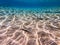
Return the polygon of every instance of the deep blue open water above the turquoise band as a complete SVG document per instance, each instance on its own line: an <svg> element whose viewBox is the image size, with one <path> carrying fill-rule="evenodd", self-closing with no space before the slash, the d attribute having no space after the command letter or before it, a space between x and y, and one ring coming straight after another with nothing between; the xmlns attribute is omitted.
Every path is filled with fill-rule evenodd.
<svg viewBox="0 0 60 45"><path fill-rule="evenodd" d="M0 6L23 8L60 7L60 0L0 0Z"/></svg>

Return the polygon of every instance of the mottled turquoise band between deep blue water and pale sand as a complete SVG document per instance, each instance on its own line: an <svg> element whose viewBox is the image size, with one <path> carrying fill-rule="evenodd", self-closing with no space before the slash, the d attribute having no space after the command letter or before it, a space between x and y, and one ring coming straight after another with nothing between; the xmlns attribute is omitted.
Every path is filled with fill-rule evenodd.
<svg viewBox="0 0 60 45"><path fill-rule="evenodd" d="M0 7L0 15L22 15L22 14L60 13L60 7L40 7L40 8L19 8Z"/></svg>

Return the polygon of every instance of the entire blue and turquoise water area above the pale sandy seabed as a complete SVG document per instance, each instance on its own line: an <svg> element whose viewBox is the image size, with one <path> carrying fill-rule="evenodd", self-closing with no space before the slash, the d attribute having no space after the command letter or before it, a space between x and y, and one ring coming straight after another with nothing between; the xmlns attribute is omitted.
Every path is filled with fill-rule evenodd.
<svg viewBox="0 0 60 45"><path fill-rule="evenodd" d="M59 0L0 0L0 9L31 11L39 13L60 13ZM0 10L1 11L1 10ZM7 11L8 12L8 11Z"/></svg>

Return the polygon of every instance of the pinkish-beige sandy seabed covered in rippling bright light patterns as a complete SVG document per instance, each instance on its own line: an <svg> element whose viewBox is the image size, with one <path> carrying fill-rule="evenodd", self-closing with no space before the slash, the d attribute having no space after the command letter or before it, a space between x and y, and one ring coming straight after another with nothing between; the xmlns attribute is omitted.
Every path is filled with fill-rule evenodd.
<svg viewBox="0 0 60 45"><path fill-rule="evenodd" d="M0 13L0 45L60 45L60 14Z"/></svg>

